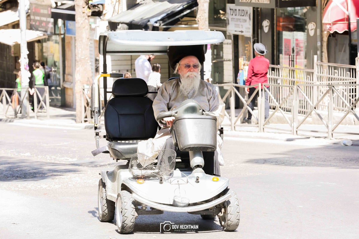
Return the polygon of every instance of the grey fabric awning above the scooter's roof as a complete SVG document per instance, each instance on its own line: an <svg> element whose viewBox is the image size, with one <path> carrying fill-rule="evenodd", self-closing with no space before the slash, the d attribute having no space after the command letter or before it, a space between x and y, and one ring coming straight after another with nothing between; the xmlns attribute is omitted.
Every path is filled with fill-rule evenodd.
<svg viewBox="0 0 359 239"><path fill-rule="evenodd" d="M153 26L174 25L178 18L193 11L197 6L197 0L144 0L109 18L108 21L124 23L130 30L152 30Z"/></svg>

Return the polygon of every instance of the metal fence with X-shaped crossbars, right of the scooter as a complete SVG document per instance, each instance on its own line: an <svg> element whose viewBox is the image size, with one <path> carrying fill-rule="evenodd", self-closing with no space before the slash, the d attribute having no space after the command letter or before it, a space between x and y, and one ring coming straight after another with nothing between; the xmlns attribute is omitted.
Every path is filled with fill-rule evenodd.
<svg viewBox="0 0 359 239"><path fill-rule="evenodd" d="M285 124L288 124L289 129L288 132L296 135L298 131L307 131L309 130L304 129L302 126L304 125L307 118L312 117L312 114L315 114L321 121L321 123L325 126L326 131L320 130L310 130L310 132L317 132L317 133L326 133L327 138L331 139L333 134L359 134L358 130L353 132L339 132L338 126L344 122L344 119L349 115L353 115L353 119L356 119L359 124L359 116L358 113L355 111L356 108L359 109L359 96L355 96L348 102L342 96L342 86L351 86L351 87L358 87L359 84L297 84L295 86L288 86L288 85L274 85L274 84L263 84L263 89L261 89L261 84L254 85L257 86L258 92L258 116L256 116L253 111L248 106L250 99L246 97L242 97L239 92L237 91L236 87L254 87L254 86L243 86L237 84L218 84L218 87L226 87L227 92L223 97L223 101L227 98L229 99L230 105L230 114L225 114L225 117L229 120L229 125L231 130L235 130L236 126L241 126L243 115L250 111L252 113L252 117L255 117L258 121L257 127L259 132L264 132L266 128L271 128L270 126L266 125L277 113L280 113L280 117ZM268 88L267 88L268 87ZM278 97L278 95L273 94L271 92L272 87L278 87L281 92L287 92L285 97ZM311 99L312 92L314 90L320 90L324 92L319 99ZM271 101L271 111L269 114L268 119L264 119L264 92L267 92L269 95L269 101ZM239 100L243 102L243 110L236 116L234 112L234 96L237 95ZM253 94L254 95L254 94ZM252 96L253 96L252 95ZM329 99L329 100L328 100ZM340 99L340 100L337 100ZM337 108L337 104L344 105L341 111L335 111ZM290 105L290 107L288 107ZM325 105L326 110L318 109L319 105ZM306 106L305 109L303 106ZM340 114L340 119L334 120L333 114L337 112ZM301 119L299 118L301 117ZM239 124L237 122L239 121ZM225 124L224 124L225 125ZM281 129L283 130L283 129ZM284 129L285 130L285 129Z"/></svg>

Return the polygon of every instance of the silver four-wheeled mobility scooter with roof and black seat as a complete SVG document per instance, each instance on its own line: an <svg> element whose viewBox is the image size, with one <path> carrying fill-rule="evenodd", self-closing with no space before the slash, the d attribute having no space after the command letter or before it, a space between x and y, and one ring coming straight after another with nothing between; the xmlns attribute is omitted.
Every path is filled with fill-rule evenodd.
<svg viewBox="0 0 359 239"><path fill-rule="evenodd" d="M216 117L205 112L194 100L186 100L171 111L154 117L148 87L140 78L120 78L119 73L106 73L107 55L167 54L170 46L200 45L223 42L221 32L187 30L148 32L122 30L103 32L99 37L99 53L103 56L103 71L92 85L91 110L94 114L96 146L92 153L108 153L126 164L112 171L100 172L98 184L98 214L102 222L116 216L118 231L132 233L138 215L162 214L163 211L198 214L203 219L214 219L225 231L239 225L239 201L229 188L229 179L206 174L202 167L202 152L216 150ZM107 77L113 82L112 99L104 97L104 126L106 135L98 129L101 115L99 81L103 80L106 96ZM140 140L153 138L161 120L175 118L170 129L173 143L187 156L172 149L159 150L156 158L137 153ZM100 138L107 144L100 147ZM181 158L182 157L182 158ZM185 158L187 157L187 161ZM189 160L188 160L189 158Z"/></svg>

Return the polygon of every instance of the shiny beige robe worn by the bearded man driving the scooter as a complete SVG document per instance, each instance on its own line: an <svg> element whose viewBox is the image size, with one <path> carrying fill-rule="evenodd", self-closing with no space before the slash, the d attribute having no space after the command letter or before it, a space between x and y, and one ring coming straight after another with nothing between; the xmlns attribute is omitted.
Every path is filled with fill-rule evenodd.
<svg viewBox="0 0 359 239"><path fill-rule="evenodd" d="M225 104L223 103L216 87L206 81L200 81L197 94L193 95L194 92L192 91L188 94L188 97L184 99L184 97L180 94L179 85L179 79L166 81L162 84L158 90L155 100L153 101L155 118L157 118L157 116L164 111L173 110L174 108L180 106L184 100L192 99L197 101L204 111L211 112L212 115L216 116L217 126L219 128L219 125L224 119ZM171 137L169 127L164 127L157 132L153 139L151 138L139 142L137 153L142 153L149 157L156 158L158 156L158 152L156 151L162 149L164 143L169 137ZM224 164L221 152L222 145L223 141L218 135L215 159L218 159L220 165Z"/></svg>

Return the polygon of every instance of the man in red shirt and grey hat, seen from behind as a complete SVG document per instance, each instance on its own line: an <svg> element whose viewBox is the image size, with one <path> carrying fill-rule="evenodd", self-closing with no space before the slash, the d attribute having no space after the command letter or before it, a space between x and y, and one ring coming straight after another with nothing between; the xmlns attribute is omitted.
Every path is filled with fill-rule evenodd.
<svg viewBox="0 0 359 239"><path fill-rule="evenodd" d="M262 43L256 43L253 46L255 51L255 58L251 59L248 64L248 72L246 79L246 86L257 85L258 83L268 83L267 73L269 68L269 60L264 57L264 55L268 52L266 47ZM254 91L258 86L248 87L246 91L248 92L248 99L253 95ZM266 86L267 88L269 86ZM263 89L263 85L261 85ZM256 99L258 97L258 92L256 96L253 97L248 106L253 110ZM265 108L264 108L264 119L266 120L269 117L269 101L268 101L268 92L264 91L265 97ZM248 111L248 117L243 120L247 124L252 124L252 114ZM267 122L269 124L269 122Z"/></svg>

